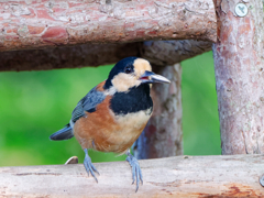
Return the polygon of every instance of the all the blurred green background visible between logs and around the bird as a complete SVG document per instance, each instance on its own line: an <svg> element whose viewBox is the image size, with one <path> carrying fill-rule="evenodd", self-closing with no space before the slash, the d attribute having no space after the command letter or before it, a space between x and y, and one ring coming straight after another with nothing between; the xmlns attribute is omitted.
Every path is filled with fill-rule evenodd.
<svg viewBox="0 0 264 198"><path fill-rule="evenodd" d="M182 63L186 155L218 155L220 130L212 53ZM79 99L108 77L111 66L0 73L0 166L64 164L84 152L75 139L52 142ZM92 162L125 156L89 151Z"/></svg>

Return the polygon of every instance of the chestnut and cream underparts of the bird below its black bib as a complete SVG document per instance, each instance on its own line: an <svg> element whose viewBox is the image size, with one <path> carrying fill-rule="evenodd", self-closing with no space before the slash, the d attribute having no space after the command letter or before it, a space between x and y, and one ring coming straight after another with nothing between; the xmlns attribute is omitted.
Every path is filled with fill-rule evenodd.
<svg viewBox="0 0 264 198"><path fill-rule="evenodd" d="M82 148L124 153L145 128L151 110L114 116L109 109L110 99L107 96L95 112L86 112L76 121L74 134Z"/></svg>

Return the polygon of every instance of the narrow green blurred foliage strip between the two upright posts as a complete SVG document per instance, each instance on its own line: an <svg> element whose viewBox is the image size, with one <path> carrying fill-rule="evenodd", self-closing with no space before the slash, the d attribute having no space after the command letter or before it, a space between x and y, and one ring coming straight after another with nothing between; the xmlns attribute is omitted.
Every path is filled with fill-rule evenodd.
<svg viewBox="0 0 264 198"><path fill-rule="evenodd" d="M184 61L182 66L184 153L220 155L220 123L212 52Z"/></svg>

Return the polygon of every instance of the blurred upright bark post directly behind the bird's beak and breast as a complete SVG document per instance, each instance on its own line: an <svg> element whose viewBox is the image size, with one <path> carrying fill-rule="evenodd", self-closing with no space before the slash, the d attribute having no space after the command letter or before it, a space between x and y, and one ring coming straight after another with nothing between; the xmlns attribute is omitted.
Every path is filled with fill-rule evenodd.
<svg viewBox="0 0 264 198"><path fill-rule="evenodd" d="M182 129L182 67L154 67L153 70L165 76L172 82L154 84L152 99L154 111L143 133L134 146L138 158L158 158L183 155Z"/></svg>

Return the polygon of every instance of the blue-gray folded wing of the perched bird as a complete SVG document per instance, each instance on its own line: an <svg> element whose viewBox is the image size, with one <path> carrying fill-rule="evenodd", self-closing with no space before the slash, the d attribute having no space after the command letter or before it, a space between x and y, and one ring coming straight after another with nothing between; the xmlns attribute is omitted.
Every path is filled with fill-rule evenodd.
<svg viewBox="0 0 264 198"><path fill-rule="evenodd" d="M79 118L85 117L85 111L94 112L98 103L101 103L106 95L94 87L76 106L72 113L72 121L76 122Z"/></svg>

